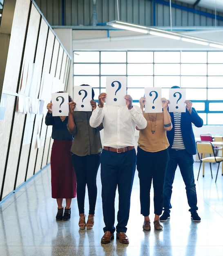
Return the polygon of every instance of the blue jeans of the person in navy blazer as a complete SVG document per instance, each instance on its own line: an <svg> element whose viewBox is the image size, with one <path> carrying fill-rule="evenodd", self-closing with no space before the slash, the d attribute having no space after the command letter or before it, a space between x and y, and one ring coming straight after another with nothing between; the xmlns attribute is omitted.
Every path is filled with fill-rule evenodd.
<svg viewBox="0 0 223 256"><path fill-rule="evenodd" d="M180 168L183 181L185 183L185 189L187 193L187 202L190 206L189 211L194 212L198 209L197 207L197 195L194 183L194 159L193 155L187 153L187 150L175 150L169 149L169 164L167 167L165 185L164 185L164 211L170 213L172 208L170 199L172 195L172 184L174 182L175 171L177 165Z"/></svg>

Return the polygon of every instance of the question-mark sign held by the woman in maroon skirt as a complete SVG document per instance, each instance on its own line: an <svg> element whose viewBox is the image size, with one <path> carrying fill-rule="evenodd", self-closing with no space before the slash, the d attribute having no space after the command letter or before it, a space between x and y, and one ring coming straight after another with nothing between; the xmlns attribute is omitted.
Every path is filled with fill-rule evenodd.
<svg viewBox="0 0 223 256"><path fill-rule="evenodd" d="M69 114L68 93L66 92L52 93L51 101L53 104L52 106L53 117L68 116Z"/></svg>

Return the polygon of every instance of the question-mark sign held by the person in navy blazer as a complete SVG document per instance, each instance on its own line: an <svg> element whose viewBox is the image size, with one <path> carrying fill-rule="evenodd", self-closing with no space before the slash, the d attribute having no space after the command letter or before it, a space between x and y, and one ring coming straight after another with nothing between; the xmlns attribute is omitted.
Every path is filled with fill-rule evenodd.
<svg viewBox="0 0 223 256"><path fill-rule="evenodd" d="M185 103L186 89L170 88L169 89L169 112L186 112Z"/></svg>

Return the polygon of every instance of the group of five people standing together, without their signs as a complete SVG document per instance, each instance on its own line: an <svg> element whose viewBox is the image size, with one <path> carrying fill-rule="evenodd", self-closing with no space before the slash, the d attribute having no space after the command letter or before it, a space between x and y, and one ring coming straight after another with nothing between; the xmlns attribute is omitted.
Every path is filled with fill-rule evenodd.
<svg viewBox="0 0 223 256"><path fill-rule="evenodd" d="M130 197L137 168L140 180L141 214L144 216L143 230L149 231L150 189L154 188L154 229L162 230L160 221L170 218L170 198L177 165L186 186L187 200L193 221L200 221L197 214L197 198L193 173L193 155L196 154L192 123L201 127L202 119L185 101L186 112L169 113L169 101L162 98L161 113L145 113L146 98L134 106L132 97L125 95L126 106L108 106L106 93L94 101L92 89L92 111L74 111L76 103L69 99L69 116L52 117L52 103L47 104L46 124L52 125L54 143L51 152L52 198L58 203L57 220L69 220L71 199L76 196L79 209L80 229L94 226L94 211L97 197L96 175L101 164L102 204L105 222L101 243L116 239L129 243L126 235L129 219ZM100 130L104 129L103 148ZM137 155L135 129L139 130ZM72 142L73 140L73 142ZM66 142L64 142L66 141ZM66 144L67 161L61 152ZM74 171L75 170L75 171ZM76 188L77 184L77 188ZM85 222L85 189L88 188L89 216ZM114 201L118 187L118 214L115 222ZM62 199L66 199L63 213ZM163 215L162 214L162 211ZM160 217L161 216L161 217Z"/></svg>

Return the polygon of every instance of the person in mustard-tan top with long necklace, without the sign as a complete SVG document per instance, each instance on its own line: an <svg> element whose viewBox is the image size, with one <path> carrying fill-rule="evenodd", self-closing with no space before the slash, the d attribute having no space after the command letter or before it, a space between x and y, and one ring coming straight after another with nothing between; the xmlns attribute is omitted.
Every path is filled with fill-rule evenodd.
<svg viewBox="0 0 223 256"><path fill-rule="evenodd" d="M145 97L139 100L140 108L145 106ZM147 127L139 130L137 149L137 170L140 181L141 214L144 216L143 230L149 231L150 219L150 189L154 188L154 228L162 230L159 216L163 210L163 189L165 174L169 161L167 131L172 129L172 122L167 110L167 99L161 98L163 111L161 113L145 113Z"/></svg>

